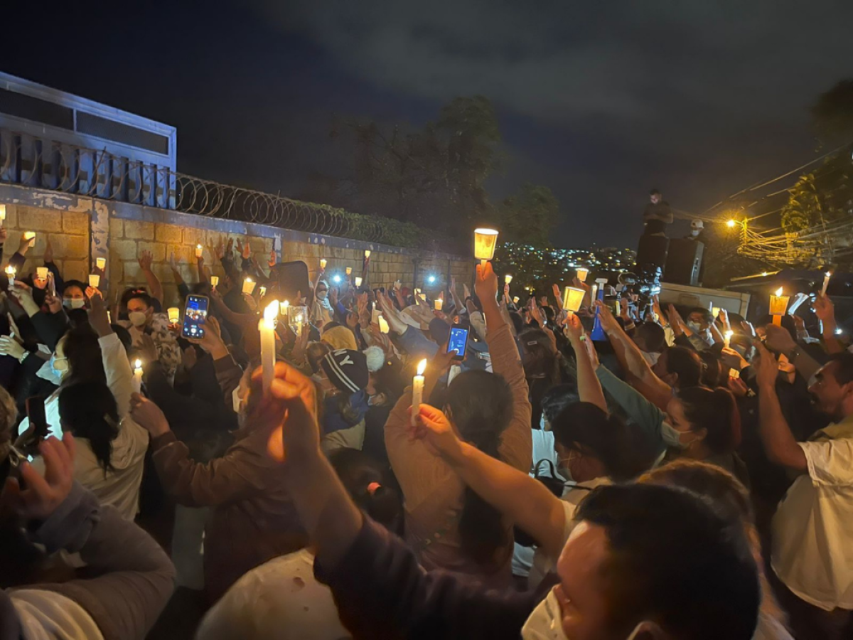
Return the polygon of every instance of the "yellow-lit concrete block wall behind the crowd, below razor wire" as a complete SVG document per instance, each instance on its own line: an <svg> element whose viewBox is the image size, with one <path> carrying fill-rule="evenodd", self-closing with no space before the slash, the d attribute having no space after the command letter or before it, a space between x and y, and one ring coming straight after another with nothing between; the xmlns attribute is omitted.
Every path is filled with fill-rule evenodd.
<svg viewBox="0 0 853 640"><path fill-rule="evenodd" d="M216 244L220 238L227 237L241 237L243 241L248 238L252 252L264 266L273 250L282 262L303 260L312 279L322 258L328 260L328 275L335 271L343 273L347 266L358 274L365 249L372 252L370 282L374 286L387 287L395 280L411 286L415 270L418 276L415 286L425 290L442 288L450 275L456 276L459 282L470 283L473 278L472 259L283 230L264 224L206 218L15 185L0 185L0 203L6 204L5 226L9 232L4 247L6 259L17 248L24 231L37 234L36 245L27 254L26 273L42 264L44 247L49 240L55 262L67 279L85 281L95 258L107 258L107 278L110 294L114 296L125 288L145 284L138 258L142 251L150 251L154 259L152 269L165 288L166 305L177 304L177 285L169 268L169 256L174 253L184 280L195 282L195 246L205 247L205 259L210 266L213 257L207 249L208 244ZM223 275L221 267L212 266L215 275ZM434 285L426 282L430 274L437 276Z"/></svg>

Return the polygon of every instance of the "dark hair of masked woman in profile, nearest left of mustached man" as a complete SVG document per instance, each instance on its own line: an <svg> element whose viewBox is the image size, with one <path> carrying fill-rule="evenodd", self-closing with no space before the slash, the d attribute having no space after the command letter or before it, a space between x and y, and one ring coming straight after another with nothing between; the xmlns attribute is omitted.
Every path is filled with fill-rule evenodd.
<svg viewBox="0 0 853 640"><path fill-rule="evenodd" d="M704 428L705 444L714 453L730 453L740 445L740 413L728 389L690 387L678 392L684 416L693 430Z"/></svg>

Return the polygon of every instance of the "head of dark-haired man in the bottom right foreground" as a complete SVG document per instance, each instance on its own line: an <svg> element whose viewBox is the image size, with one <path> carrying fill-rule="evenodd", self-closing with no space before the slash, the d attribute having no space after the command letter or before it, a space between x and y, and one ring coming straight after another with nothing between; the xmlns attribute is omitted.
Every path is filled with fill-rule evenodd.
<svg viewBox="0 0 853 640"><path fill-rule="evenodd" d="M557 563L550 604L566 637L749 640L761 600L740 522L668 486L602 486L577 508L579 523ZM531 625L536 625L531 628ZM526 636L525 636L526 637Z"/></svg>

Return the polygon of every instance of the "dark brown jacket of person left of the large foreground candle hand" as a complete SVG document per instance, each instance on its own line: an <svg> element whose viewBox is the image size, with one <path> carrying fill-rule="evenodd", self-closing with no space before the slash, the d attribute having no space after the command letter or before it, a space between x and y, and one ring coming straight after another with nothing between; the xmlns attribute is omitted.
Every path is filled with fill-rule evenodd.
<svg viewBox="0 0 853 640"><path fill-rule="evenodd" d="M281 465L267 455L268 439L269 428L241 428L223 457L206 464L191 460L174 433L154 439L154 466L165 491L180 504L214 507L205 532L212 599L249 569L307 543Z"/></svg>

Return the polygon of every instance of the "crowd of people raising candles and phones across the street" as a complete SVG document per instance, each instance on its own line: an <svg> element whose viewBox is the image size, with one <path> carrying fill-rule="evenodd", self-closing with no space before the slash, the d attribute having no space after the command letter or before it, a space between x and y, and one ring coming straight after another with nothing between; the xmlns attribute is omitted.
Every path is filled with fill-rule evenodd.
<svg viewBox="0 0 853 640"><path fill-rule="evenodd" d="M49 251L25 273L32 242L0 282L0 640L143 638L176 586L200 640L853 637L853 353L824 294L812 336L323 260L270 381L275 253L223 239L164 300L146 253L117 291ZM165 312L189 295L199 338Z"/></svg>

